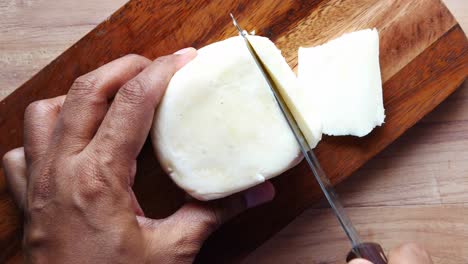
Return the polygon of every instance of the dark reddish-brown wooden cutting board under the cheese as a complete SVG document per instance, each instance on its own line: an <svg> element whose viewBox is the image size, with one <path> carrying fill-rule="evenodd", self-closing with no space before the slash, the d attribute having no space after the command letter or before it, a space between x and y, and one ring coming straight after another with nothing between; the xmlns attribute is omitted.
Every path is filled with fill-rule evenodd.
<svg viewBox="0 0 468 264"><path fill-rule="evenodd" d="M334 184L414 125L468 75L468 41L438 0L133 0L0 103L0 155L22 145L23 113L32 101L65 94L75 78L124 54L156 58L234 36L229 12L249 31L271 38L294 69L299 46L322 44L363 28L379 30L386 123L364 138L322 140L316 154ZM321 196L303 163L273 183L275 200L218 230L205 243L198 262L241 260ZM184 201L148 142L138 160L134 188L151 217L170 215ZM21 245L21 216L3 171L0 215L3 262L18 257Z"/></svg>

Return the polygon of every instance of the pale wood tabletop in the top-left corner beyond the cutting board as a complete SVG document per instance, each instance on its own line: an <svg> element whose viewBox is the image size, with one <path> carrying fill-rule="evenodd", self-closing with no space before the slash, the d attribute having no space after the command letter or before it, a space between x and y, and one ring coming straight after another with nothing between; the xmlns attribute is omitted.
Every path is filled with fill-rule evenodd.
<svg viewBox="0 0 468 264"><path fill-rule="evenodd" d="M13 92L125 2L0 1L0 99Z"/></svg>

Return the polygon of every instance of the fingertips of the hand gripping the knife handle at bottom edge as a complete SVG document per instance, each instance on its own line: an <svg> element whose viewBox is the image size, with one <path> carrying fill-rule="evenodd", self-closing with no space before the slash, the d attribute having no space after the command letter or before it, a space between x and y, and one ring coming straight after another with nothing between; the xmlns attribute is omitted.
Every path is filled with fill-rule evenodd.
<svg viewBox="0 0 468 264"><path fill-rule="evenodd" d="M372 262L354 259L348 264L372 264ZM432 260L424 248L414 243L407 243L390 251L388 264L432 264Z"/></svg>

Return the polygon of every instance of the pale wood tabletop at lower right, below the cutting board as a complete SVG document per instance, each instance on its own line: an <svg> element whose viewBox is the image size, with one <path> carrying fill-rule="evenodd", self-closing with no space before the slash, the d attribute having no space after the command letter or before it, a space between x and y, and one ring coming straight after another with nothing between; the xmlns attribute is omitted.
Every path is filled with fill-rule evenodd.
<svg viewBox="0 0 468 264"><path fill-rule="evenodd" d="M427 248L435 264L467 263L467 103L465 82L435 111L338 185L346 210L366 239L381 242L387 251L402 242L418 242ZM325 201L314 207L244 263L284 263L285 259L292 263L343 263L349 245L341 227ZM387 216L398 220L382 223ZM381 224L376 227L364 222ZM317 232L309 232L313 228Z"/></svg>

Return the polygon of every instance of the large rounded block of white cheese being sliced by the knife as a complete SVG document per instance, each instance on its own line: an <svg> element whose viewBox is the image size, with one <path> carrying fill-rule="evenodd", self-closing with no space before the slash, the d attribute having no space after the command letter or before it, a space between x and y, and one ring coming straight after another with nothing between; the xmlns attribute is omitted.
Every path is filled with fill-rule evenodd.
<svg viewBox="0 0 468 264"><path fill-rule="evenodd" d="M282 91L290 94L291 103L300 86L280 51L267 38L249 39L284 86ZM299 108L302 104L297 103ZM304 119L301 126L315 146L319 125L311 118L298 118ZM241 37L201 48L174 75L156 111L151 135L162 167L199 200L257 185L302 158Z"/></svg>

